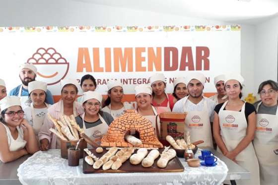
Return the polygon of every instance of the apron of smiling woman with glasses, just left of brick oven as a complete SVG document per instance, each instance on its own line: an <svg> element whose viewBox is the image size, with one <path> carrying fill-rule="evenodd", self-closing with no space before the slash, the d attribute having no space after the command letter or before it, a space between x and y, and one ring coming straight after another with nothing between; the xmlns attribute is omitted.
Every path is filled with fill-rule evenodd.
<svg viewBox="0 0 278 185"><path fill-rule="evenodd" d="M86 128L85 122L84 122L84 117L85 113L81 115L82 122L83 122L83 129L85 131L85 134L89 136L93 141L95 141L97 144L100 144L101 142L101 136L107 133L107 130L109 128L108 124L105 122L105 120L98 114L98 117L100 121L102 122L101 124L97 126L93 126L90 128ZM91 145L89 145L91 146ZM91 146L92 147L92 146Z"/></svg>

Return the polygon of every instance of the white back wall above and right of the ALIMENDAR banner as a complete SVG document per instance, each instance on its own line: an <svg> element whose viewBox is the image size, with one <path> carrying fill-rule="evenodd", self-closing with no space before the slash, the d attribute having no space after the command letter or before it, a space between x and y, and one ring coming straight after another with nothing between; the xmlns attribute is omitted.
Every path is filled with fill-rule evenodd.
<svg viewBox="0 0 278 185"><path fill-rule="evenodd" d="M170 7L169 7L170 8ZM236 24L236 22L234 22ZM77 0L9 0L0 2L0 27L64 25L226 25L228 22L134 10ZM241 71L244 95L254 91L254 26L242 25ZM277 41L277 40L276 40ZM224 44L224 43L223 43ZM276 67L277 68L277 67Z"/></svg>

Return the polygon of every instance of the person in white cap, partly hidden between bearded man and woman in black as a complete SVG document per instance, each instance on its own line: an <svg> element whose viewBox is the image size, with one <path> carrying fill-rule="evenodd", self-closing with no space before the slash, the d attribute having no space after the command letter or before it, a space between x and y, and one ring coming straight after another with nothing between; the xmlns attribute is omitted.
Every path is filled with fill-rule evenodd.
<svg viewBox="0 0 278 185"><path fill-rule="evenodd" d="M224 79L224 74L214 77L214 85L216 87L217 93L209 97L209 99L215 102L216 105L225 102L228 98L224 89Z"/></svg>

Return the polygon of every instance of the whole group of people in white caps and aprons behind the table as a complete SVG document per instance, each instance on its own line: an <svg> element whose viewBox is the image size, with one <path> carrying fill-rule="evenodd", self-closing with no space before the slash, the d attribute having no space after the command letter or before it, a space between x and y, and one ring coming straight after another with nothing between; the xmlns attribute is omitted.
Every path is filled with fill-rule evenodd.
<svg viewBox="0 0 278 185"><path fill-rule="evenodd" d="M201 147L213 147L214 139L218 151L251 172L250 180L237 181L238 184L273 185L278 181L278 155L273 152L278 149L278 84L275 81L261 83L258 89L261 101L252 105L241 100L244 79L239 74L216 76L217 93L207 98L203 95L206 77L202 73L176 78L172 94L165 92L165 76L155 73L150 76L149 84L135 87L137 106L133 107L122 102L123 84L108 81L108 98L103 100L95 91L95 78L89 74L80 80L83 95L78 98L77 80L61 80L61 99L54 104L47 84L35 80L36 73L33 64L20 65L22 84L12 89L9 96L0 79L2 162L38 150L60 148L60 140L49 130L55 125L46 116L48 113L57 120L61 115L74 115L85 133L100 142L101 134L125 110L135 109L153 127L159 113L187 112L185 128L190 131L192 141L204 140Z"/></svg>

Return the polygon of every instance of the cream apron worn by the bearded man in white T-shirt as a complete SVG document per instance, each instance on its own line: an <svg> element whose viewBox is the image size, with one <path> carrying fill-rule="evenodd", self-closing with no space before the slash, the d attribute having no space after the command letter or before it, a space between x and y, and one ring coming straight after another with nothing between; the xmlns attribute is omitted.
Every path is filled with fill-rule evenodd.
<svg viewBox="0 0 278 185"><path fill-rule="evenodd" d="M185 110L185 103L188 96L183 100L183 111L187 112L185 119L185 131L190 131L191 142L198 140L204 140L204 143L199 144L199 146L209 146L213 148L212 135L211 135L211 125L208 114L207 101L204 101L204 108L202 111L187 111Z"/></svg>

